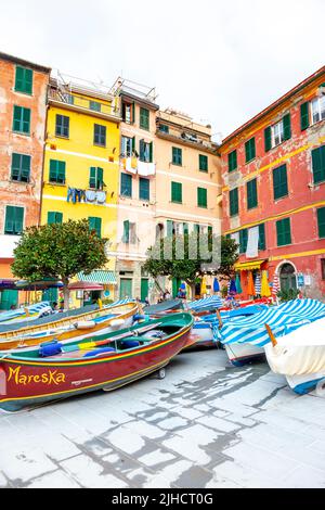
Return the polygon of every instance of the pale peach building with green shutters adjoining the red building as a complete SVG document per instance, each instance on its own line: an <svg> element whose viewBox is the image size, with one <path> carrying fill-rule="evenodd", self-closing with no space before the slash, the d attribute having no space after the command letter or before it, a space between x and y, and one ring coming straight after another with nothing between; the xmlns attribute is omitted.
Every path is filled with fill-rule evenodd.
<svg viewBox="0 0 325 510"><path fill-rule="evenodd" d="M171 109L156 119L156 233L221 233L221 164L211 127ZM161 286L176 296L180 281ZM211 282L208 280L208 291ZM210 285L209 285L210 283ZM199 285L196 295L200 295Z"/></svg>

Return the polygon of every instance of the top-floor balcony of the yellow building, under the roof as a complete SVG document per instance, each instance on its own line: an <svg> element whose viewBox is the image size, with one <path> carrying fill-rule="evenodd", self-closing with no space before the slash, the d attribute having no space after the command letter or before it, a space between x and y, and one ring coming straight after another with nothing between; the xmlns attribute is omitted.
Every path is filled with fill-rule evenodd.
<svg viewBox="0 0 325 510"><path fill-rule="evenodd" d="M107 120L120 122L120 107L115 103L115 98L110 102L102 102L96 98L88 99L83 95L70 92L62 88L49 89L49 103L66 110L73 110L78 113L86 113Z"/></svg>

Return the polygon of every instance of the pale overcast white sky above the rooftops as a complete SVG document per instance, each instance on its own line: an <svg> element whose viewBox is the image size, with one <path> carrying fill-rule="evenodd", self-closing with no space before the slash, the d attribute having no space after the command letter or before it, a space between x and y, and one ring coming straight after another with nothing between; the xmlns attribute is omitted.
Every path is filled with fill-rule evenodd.
<svg viewBox="0 0 325 510"><path fill-rule="evenodd" d="M1 0L0 51L156 87L218 140L324 65L324 0Z"/></svg>

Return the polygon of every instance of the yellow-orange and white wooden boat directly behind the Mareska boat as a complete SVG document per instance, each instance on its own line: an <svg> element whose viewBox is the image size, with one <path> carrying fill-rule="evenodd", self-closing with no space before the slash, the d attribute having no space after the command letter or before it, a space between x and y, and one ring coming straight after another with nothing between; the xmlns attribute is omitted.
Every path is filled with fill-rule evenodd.
<svg viewBox="0 0 325 510"><path fill-rule="evenodd" d="M131 326L133 316L138 311L138 303L130 302L65 317L46 324L26 326L18 330L0 332L0 350L38 345L53 339L66 341L78 337L80 340L93 334L108 333L114 329Z"/></svg>

